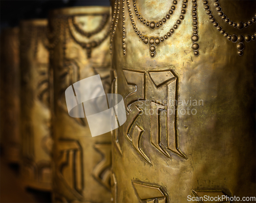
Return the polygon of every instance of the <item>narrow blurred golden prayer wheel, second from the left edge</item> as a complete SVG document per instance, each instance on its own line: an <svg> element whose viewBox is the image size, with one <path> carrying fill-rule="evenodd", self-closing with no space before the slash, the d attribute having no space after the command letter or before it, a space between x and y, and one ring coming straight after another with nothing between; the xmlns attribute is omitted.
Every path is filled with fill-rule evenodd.
<svg viewBox="0 0 256 203"><path fill-rule="evenodd" d="M26 186L51 190L47 20L20 22L21 175Z"/></svg>

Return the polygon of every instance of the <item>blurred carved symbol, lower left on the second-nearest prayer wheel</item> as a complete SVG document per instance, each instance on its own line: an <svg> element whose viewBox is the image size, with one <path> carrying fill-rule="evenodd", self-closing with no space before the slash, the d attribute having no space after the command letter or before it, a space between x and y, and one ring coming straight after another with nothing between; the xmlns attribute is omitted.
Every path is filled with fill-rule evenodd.
<svg viewBox="0 0 256 203"><path fill-rule="evenodd" d="M59 140L60 154L57 161L57 174L71 191L81 198L83 190L82 147L75 140Z"/></svg>

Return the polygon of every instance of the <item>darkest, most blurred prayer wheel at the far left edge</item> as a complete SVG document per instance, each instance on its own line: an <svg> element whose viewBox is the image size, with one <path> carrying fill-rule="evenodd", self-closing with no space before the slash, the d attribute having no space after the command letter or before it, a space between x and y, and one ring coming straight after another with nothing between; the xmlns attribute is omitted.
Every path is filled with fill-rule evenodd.
<svg viewBox="0 0 256 203"><path fill-rule="evenodd" d="M1 144L6 161L20 161L19 30L1 33Z"/></svg>

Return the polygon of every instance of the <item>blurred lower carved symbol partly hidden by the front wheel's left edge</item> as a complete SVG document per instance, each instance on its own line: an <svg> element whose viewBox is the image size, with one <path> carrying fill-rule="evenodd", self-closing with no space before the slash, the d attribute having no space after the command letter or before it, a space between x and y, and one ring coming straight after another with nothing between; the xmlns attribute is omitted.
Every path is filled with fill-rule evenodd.
<svg viewBox="0 0 256 203"><path fill-rule="evenodd" d="M93 170L93 177L110 190L111 176L111 143L95 144L94 148L102 154L103 159Z"/></svg>

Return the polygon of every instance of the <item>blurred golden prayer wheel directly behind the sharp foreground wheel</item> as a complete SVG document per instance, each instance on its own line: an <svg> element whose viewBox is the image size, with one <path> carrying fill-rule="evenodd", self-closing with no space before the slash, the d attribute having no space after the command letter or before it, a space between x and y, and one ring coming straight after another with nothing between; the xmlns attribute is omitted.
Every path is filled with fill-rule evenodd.
<svg viewBox="0 0 256 203"><path fill-rule="evenodd" d="M54 75L53 201L110 202L111 133L92 137L85 118L69 116L65 91L99 74L110 92L110 7L75 7L49 16Z"/></svg>

